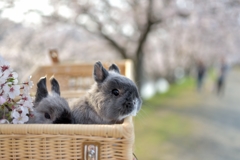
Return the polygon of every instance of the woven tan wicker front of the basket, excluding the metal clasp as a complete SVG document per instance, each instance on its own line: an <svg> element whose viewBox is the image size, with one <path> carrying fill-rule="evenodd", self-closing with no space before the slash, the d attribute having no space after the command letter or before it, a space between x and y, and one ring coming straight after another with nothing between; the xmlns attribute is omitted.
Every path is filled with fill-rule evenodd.
<svg viewBox="0 0 240 160"><path fill-rule="evenodd" d="M101 160L130 160L132 118L117 125L0 125L0 159L82 160L83 142L100 144Z"/></svg>

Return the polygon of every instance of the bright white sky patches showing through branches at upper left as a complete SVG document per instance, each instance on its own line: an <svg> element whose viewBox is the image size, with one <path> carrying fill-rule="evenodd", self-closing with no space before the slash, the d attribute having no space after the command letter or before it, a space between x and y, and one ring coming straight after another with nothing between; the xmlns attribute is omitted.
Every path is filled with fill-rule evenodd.
<svg viewBox="0 0 240 160"><path fill-rule="evenodd" d="M79 0L79 3L83 3ZM97 0L93 1L97 3ZM109 1L111 5L118 6L119 8L127 7L125 3L122 3L121 0ZM54 8L49 4L49 0L16 0L14 1L14 7L4 9L1 17L8 18L11 21L16 23L25 23L25 24L40 24L41 23L41 15L37 12L33 12L33 10L38 11L42 15L51 15L54 12ZM84 3L83 3L84 4ZM6 2L0 1L0 9L6 5ZM71 9L65 5L60 5L57 10L58 14L65 17L70 18L72 16Z"/></svg>

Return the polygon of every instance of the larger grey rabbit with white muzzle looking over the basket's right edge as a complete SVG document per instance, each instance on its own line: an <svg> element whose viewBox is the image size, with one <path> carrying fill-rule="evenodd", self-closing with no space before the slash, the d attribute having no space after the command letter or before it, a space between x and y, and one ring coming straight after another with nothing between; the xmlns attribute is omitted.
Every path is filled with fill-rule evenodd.
<svg viewBox="0 0 240 160"><path fill-rule="evenodd" d="M73 123L120 124L137 114L142 104L138 89L115 64L107 71L101 62L96 62L93 77L91 89L72 107Z"/></svg>

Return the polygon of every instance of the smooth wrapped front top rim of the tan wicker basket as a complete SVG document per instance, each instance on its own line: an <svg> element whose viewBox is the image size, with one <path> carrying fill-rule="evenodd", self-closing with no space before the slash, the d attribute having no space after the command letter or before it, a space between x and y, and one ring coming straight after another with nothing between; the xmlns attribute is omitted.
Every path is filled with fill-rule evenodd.
<svg viewBox="0 0 240 160"><path fill-rule="evenodd" d="M1 135L91 135L131 137L134 127L132 117L122 124L0 124Z"/></svg>

